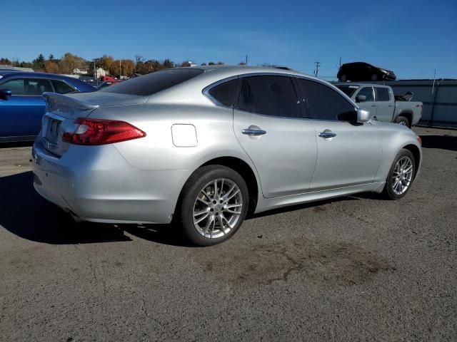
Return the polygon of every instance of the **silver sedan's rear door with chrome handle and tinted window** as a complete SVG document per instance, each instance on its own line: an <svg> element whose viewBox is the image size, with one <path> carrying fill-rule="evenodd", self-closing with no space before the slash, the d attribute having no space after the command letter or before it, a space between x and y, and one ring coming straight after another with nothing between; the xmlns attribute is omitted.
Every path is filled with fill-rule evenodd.
<svg viewBox="0 0 457 342"><path fill-rule="evenodd" d="M301 116L289 76L241 76L233 130L251 158L267 198L308 191L316 166L316 133Z"/></svg>

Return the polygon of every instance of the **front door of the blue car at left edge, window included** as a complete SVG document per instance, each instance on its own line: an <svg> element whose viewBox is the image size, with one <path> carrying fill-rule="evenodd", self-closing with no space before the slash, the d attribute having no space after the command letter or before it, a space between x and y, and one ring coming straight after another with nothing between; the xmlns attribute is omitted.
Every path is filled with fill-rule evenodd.
<svg viewBox="0 0 457 342"><path fill-rule="evenodd" d="M0 100L0 136L34 136L41 128L44 115L45 91L53 91L51 83L40 78L14 78L0 84L0 89L11 89L11 96Z"/></svg>

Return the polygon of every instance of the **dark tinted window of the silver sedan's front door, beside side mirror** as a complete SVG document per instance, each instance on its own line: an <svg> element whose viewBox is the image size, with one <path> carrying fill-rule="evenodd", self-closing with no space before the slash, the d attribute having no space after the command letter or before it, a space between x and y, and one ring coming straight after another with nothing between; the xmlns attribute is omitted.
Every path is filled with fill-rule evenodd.
<svg viewBox="0 0 457 342"><path fill-rule="evenodd" d="M303 78L297 82L305 97L308 118L346 121L354 113L354 106L330 87Z"/></svg>

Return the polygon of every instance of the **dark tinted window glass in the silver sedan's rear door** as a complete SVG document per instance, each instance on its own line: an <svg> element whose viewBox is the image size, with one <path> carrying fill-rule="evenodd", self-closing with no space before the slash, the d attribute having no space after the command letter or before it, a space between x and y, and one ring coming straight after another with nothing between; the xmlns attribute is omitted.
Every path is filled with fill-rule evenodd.
<svg viewBox="0 0 457 342"><path fill-rule="evenodd" d="M301 117L291 78L251 76L239 80L238 109L263 115Z"/></svg>

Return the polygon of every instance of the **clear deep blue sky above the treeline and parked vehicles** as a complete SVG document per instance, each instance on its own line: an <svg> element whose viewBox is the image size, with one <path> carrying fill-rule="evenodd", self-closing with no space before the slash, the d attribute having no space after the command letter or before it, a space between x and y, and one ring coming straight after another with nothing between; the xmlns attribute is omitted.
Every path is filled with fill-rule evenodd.
<svg viewBox="0 0 457 342"><path fill-rule="evenodd" d="M0 56L271 63L335 76L367 61L457 78L457 1L2 1Z"/></svg>

